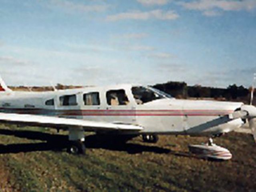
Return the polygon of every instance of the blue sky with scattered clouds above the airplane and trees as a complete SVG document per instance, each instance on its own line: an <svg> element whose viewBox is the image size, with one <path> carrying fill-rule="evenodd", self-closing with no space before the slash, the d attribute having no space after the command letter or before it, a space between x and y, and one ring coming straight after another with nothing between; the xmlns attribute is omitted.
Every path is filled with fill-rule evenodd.
<svg viewBox="0 0 256 192"><path fill-rule="evenodd" d="M256 0L0 0L8 85L252 84Z"/></svg>

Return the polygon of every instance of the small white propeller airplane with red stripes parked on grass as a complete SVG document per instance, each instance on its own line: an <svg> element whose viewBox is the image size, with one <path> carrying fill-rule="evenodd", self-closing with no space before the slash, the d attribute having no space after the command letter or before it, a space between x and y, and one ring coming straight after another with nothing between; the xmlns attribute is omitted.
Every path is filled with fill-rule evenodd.
<svg viewBox="0 0 256 192"><path fill-rule="evenodd" d="M214 146L212 138L247 120L256 139L256 107L241 102L180 100L131 84L20 92L0 78L0 122L68 130L67 151L72 154L85 153L86 131L113 139L142 135L145 142L157 142L160 134L208 136Z"/></svg>

